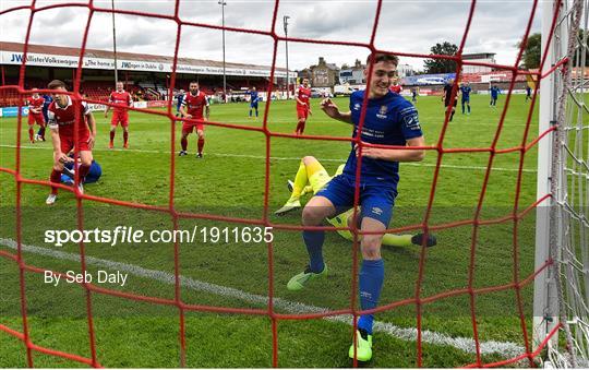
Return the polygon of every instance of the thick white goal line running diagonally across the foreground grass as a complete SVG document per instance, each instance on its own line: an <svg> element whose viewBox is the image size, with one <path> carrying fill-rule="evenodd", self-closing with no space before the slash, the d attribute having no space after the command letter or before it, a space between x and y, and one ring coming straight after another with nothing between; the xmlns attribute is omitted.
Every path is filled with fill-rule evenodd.
<svg viewBox="0 0 589 370"><path fill-rule="evenodd" d="M12 239L0 238L0 244L5 246L13 250L17 249L16 241ZM80 262L80 254L57 251L49 248L22 244L22 250L25 252L50 256L50 258L55 258L59 260ZM121 263L121 262L116 262L116 261L110 261L110 260L103 260L103 259L97 259L97 258L88 256L88 255L86 255L86 263L88 265L95 265L95 266L110 268L113 271L125 272L134 276L149 278L149 279L161 282L169 285L175 284L173 274L166 273L158 270L144 268L144 267L133 265L133 264ZM180 275L180 283L182 287L196 290L196 291L205 291L205 293L209 293L209 294L221 296L221 297L236 298L236 299L240 299L242 301L249 302L249 303L255 303L255 305L261 305L261 306L266 306L268 303L268 297L266 296L255 295L255 294L247 293L240 289L226 287L223 285L201 282L201 281L196 281L191 277L187 277L182 275ZM329 309L327 308L289 301L283 298L274 298L274 306L280 310L284 310L289 313L294 313L294 314L318 313L318 312L329 311ZM325 320L334 321L334 322L341 322L348 325L352 325L352 317L349 314L329 317L329 318L325 318ZM377 332L388 334L401 341L411 341L411 342L417 341L417 329L414 327L399 327L390 323L375 321L374 330ZM452 346L454 348L460 349L468 354L476 354L474 339L472 338L453 337L447 334L432 332L432 331L422 331L421 335L422 335L423 343L438 345L438 346ZM489 341L489 342L480 342L480 351L482 355L497 354L505 358L513 358L513 357L524 354L525 348L512 342Z"/></svg>

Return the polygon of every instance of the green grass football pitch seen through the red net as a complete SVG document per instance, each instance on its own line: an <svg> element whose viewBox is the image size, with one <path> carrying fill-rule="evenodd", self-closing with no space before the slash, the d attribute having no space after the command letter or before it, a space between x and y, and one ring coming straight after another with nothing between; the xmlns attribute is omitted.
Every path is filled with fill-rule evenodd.
<svg viewBox="0 0 589 370"><path fill-rule="evenodd" d="M347 99L336 99L346 108ZM318 99L312 100L308 134L347 138L351 127L325 116ZM496 109L488 106L486 96L472 97L472 114L462 115L458 106L455 119L445 131L445 148L489 147L496 140L496 148L518 146L525 140L526 119L530 103L525 96L513 96L501 132L497 133L505 96L500 97ZM420 121L429 145L438 142L442 134L444 108L438 97L421 97L417 104ZM265 104L261 105L263 115ZM262 126L248 119L249 106L229 104L212 106L212 120L240 126ZM534 109L537 110L537 109ZM176 124L177 144L171 148L169 119L148 114L132 112L130 150L122 150L122 131L117 131L116 148L109 151L109 121L101 112L97 118L98 138L95 159L103 166L98 183L86 186L91 195L139 202L167 207L170 204L170 160L176 158L173 205L177 211L206 213L259 219L263 215L266 140L261 132L206 128L204 159L194 157L196 139L190 136L189 156L178 157L180 123ZM16 119L0 119L0 166L14 168L16 162ZM22 126L21 174L25 178L47 180L52 156L49 142L28 144L26 124ZM268 128L273 132L291 133L296 126L293 102L273 102ZM533 115L526 143L538 135L538 118ZM272 138L269 141L269 214L272 223L299 225L300 212L275 217L272 212L287 199L286 180L292 178L299 159L313 155L329 172L345 160L350 150L348 142ZM400 165L399 195L390 227L404 227L422 222L438 159L436 151L429 151L420 164ZM482 199L481 219L493 219L514 212L518 167L521 152L497 154L492 163L486 193ZM472 219L481 195L489 152L445 153L433 200L430 225L442 225ZM517 211L521 212L536 200L537 150L530 150L524 162L520 196ZM16 182L12 175L0 172L0 250L15 253L8 247L16 239ZM22 184L22 240L27 246L43 249L23 252L24 261L41 268L56 271L81 270L75 260L80 252L76 243L55 247L44 241L47 229L76 227L75 196L60 190L53 207L45 205L48 188ZM129 208L101 202L83 201L84 227L113 229L118 225L135 229L172 229L169 214ZM530 212L519 220L517 230L508 219L480 226L473 234L472 225L462 225L435 231L438 244L425 252L421 297L468 287L471 244L474 239L473 287L482 288L509 284L533 272L534 217ZM206 219L180 218L181 229L194 226L243 227ZM327 232L324 246L330 274L316 281L306 290L291 293L286 289L289 277L304 267L306 251L300 232L274 230L274 294L280 298L276 310L280 313L304 313L317 308L338 310L350 305L351 244L335 232ZM200 238L197 238L200 239ZM514 240L517 240L518 265L514 266ZM41 253L39 251L49 251ZM57 251L59 253L50 253ZM96 261L122 263L141 267L130 274L125 286L103 284L100 287L124 293L166 299L175 298L173 282L167 278L175 272L173 244L122 243L108 246L88 243L88 256ZM61 255L61 258L60 258ZM70 258L64 258L64 255ZM416 295L420 248L385 248L385 284L381 305L409 299ZM189 305L230 308L265 309L263 296L268 291L268 248L265 243L218 242L202 240L180 244L181 298ZM99 259L99 260L97 260ZM111 267L89 263L88 271ZM110 265L112 266L112 265ZM154 272L161 275L155 276ZM154 277L155 276L155 277ZM14 261L0 258L0 323L21 331L19 268ZM89 342L85 311L85 290L73 284L52 287L43 275L26 273L27 314L31 341L37 345L89 357ZM189 284L190 283L190 284ZM197 284L201 285L199 288ZM205 286L205 288L203 288ZM213 288L212 288L213 287ZM261 298L262 297L262 298ZM532 286L521 289L525 326L531 336ZM512 343L524 346L516 294L513 289L478 295L474 298L477 327L481 342ZM96 332L98 361L106 367L178 367L179 315L169 306L139 302L93 293L92 303ZM293 303L290 305L289 303ZM300 305L294 305L300 303ZM376 314L384 325L399 331L416 327L416 305L409 303ZM433 300L421 307L423 330L444 337L472 338L470 296L457 295ZM388 327L388 326L387 326ZM278 365L280 367L350 367L347 357L351 343L351 326L338 320L278 321ZM187 312L187 366L189 367L269 367L272 366L272 323L264 315ZM373 367L414 367L417 345L387 332L375 332ZM484 361L504 359L505 353L491 353ZM58 357L34 353L38 367L77 367ZM423 366L457 367L476 361L473 353L455 346L429 342L423 344ZM24 345L0 332L0 365L25 367Z"/></svg>

